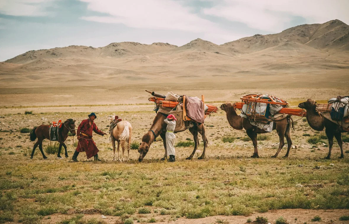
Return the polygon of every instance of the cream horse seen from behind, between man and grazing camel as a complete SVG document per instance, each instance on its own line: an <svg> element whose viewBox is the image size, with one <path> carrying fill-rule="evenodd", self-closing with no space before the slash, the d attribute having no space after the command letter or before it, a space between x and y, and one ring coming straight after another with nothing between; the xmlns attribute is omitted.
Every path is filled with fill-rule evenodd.
<svg viewBox="0 0 349 224"><path fill-rule="evenodd" d="M119 160L123 162L125 149L127 149L127 160L130 160L131 137L132 125L128 121L120 121L117 123L116 127L113 128L113 138L111 139L113 145L113 161ZM115 154L115 142L118 142L118 158L116 158ZM119 154L120 146L122 149L122 159Z"/></svg>

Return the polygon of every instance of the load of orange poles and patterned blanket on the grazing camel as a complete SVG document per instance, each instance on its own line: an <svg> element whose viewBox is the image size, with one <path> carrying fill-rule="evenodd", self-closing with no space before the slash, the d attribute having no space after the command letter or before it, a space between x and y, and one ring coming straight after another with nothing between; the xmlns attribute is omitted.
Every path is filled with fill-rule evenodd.
<svg viewBox="0 0 349 224"><path fill-rule="evenodd" d="M156 113L173 114L177 118L175 132L184 131L193 127L193 122L202 124L205 118L212 113L217 113L218 107L212 104L205 104L205 96L201 95L201 100L198 97L186 95L178 95L172 92L166 96L156 92L150 93L152 97L148 100L155 102ZM183 106L185 105L185 106Z"/></svg>

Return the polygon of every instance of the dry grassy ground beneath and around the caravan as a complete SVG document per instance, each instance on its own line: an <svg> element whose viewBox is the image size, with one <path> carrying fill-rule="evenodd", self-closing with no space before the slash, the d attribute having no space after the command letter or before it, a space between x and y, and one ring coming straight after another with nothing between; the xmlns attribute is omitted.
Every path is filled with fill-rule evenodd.
<svg viewBox="0 0 349 224"><path fill-rule="evenodd" d="M112 113L98 114L96 120L98 128L104 131L109 124L104 120L107 114ZM155 116L151 106L145 111L117 111L117 114L132 123L133 140L138 144ZM47 121L43 122L42 116ZM261 158L251 159L252 143L242 140L246 133L230 128L222 111L205 122L209 140L205 160L196 159L203 150L201 143L198 148L201 152L196 153L192 161L185 160L193 149L192 145L176 148L178 161L175 163L159 161L163 156L163 142L158 138L144 162L136 160L136 150L130 153L131 162L113 162L109 139L96 135L94 139L103 162L88 161L82 153L78 157L82 162L78 163L69 159L55 160L55 155L46 155L49 159L43 160L41 153L37 153L34 160L23 156L27 147L31 152L34 142L30 142L28 134L16 131L15 120L27 122L31 119L34 126L57 118L74 118L79 123L86 116L87 113L75 112L30 117L5 115L1 121L8 123L10 127L6 130L13 132L4 132L1 140L4 167L0 171L2 221L14 219L39 223L43 217L87 209L108 216L126 214L135 222L158 222L162 217L169 221L176 217L248 216L274 209L349 208L348 156L335 159L339 155L337 145L334 145L333 160L319 159L327 155L327 147L321 145L318 146L321 150L311 153L312 144L307 143L309 137L302 135L304 129L311 134L313 130L301 120L295 126L295 132L291 133L292 141L299 148L291 150L289 159L282 159L282 154L276 159L269 158L276 151L276 147L271 146L278 142L276 132L266 134L267 137L259 141ZM222 136L236 139L224 141ZM177 143L192 142L187 138L192 138L188 131L176 134ZM200 136L199 139L202 142ZM22 147L15 147L19 144ZM46 145L49 145L47 140L44 147ZM72 137L67 139L67 146L71 157L74 151ZM285 153L285 148L281 153ZM344 150L347 148L348 144L344 143ZM335 166L330 166L330 163ZM298 183L303 187L296 187ZM151 216L142 217L143 214ZM154 220L152 216L156 216ZM87 219L81 220L81 223L88 222Z"/></svg>

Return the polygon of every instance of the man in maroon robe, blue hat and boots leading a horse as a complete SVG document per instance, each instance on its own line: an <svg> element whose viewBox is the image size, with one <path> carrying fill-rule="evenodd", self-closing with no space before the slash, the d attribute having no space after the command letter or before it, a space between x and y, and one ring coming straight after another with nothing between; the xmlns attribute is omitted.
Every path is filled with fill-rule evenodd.
<svg viewBox="0 0 349 224"><path fill-rule="evenodd" d="M88 115L88 117L89 117L88 119L83 120L80 123L76 131L78 143L77 143L76 151L74 152L74 155L72 158L73 161L75 162L78 162L77 156L79 155L80 152L86 152L86 156L88 159L94 156L95 160L101 161L100 159L98 159L97 153L99 150L97 149L96 143L92 139L92 131L102 136L106 135L106 133L99 130L97 128L97 125L93 122L97 118L95 113L91 113L90 115Z"/></svg>

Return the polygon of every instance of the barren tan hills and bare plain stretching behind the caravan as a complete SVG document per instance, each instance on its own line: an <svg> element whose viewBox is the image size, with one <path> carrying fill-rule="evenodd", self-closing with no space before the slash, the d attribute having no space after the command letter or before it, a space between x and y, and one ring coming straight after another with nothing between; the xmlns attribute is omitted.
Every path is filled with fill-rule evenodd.
<svg viewBox="0 0 349 224"><path fill-rule="evenodd" d="M144 103L144 89L199 91L212 101L265 88L281 98L316 92L326 99L348 95L348 73L349 26L332 20L222 45L198 38L179 47L121 42L28 51L0 63L0 105L13 104L17 96L16 105L47 98L48 105ZM95 96L93 102L78 97L86 93Z"/></svg>

